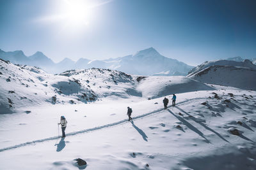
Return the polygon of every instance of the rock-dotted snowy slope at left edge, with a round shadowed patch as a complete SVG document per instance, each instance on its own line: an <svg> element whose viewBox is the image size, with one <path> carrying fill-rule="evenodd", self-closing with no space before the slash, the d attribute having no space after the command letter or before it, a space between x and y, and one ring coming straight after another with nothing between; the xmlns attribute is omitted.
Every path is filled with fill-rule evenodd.
<svg viewBox="0 0 256 170"><path fill-rule="evenodd" d="M95 93L74 78L47 74L38 67L0 60L0 113L45 103L95 101Z"/></svg>

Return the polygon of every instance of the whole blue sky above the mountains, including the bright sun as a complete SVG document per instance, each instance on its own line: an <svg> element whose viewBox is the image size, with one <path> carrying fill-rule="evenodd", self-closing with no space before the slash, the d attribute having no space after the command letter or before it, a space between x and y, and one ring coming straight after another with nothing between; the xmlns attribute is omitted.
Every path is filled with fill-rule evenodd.
<svg viewBox="0 0 256 170"><path fill-rule="evenodd" d="M253 58L255 9L256 1L235 0L0 0L0 48L41 51L54 62L122 57L151 46L193 66Z"/></svg>

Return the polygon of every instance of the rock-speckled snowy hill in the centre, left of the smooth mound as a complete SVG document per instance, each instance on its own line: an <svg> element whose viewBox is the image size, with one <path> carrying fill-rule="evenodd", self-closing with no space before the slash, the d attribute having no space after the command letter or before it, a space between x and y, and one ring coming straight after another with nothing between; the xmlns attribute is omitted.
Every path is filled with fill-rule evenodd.
<svg viewBox="0 0 256 170"><path fill-rule="evenodd" d="M120 71L92 68L65 71L60 75L79 80L80 83L92 89L99 98L141 97L141 92L136 90L137 76L131 76Z"/></svg>

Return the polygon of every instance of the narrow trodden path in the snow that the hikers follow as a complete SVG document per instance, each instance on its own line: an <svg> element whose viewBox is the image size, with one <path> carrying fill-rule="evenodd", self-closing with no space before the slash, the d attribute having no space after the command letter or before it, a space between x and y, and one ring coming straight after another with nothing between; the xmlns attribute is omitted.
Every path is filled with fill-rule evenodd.
<svg viewBox="0 0 256 170"><path fill-rule="evenodd" d="M205 97L197 97L197 98L193 98L193 99L187 99L185 101L181 101L181 102L177 103L176 105L182 105L184 103L189 103L191 101L196 101L196 100L200 100L200 99L207 99L207 98L205 98ZM170 107L171 106L168 106L168 108L170 108ZM154 113L159 113L160 111L163 111L163 110L164 109L154 110L154 111L145 113L143 115L139 115L137 117L133 117L132 120L135 120L135 119L138 119L138 118L147 117L148 115L152 115ZM101 125L101 126L98 126L98 127L93 127L93 128L90 128L90 129L84 129L84 130L81 130L81 131L70 132L70 133L66 134L66 136L73 136L73 135L81 134L81 133L85 133L85 132L97 131L97 130L104 129L104 128L107 128L107 127L113 127L115 125L123 124L125 122L127 122L127 119L120 120L120 121L114 122L112 124L106 124L106 125ZM20 143L19 145L14 145L14 146L6 147L6 148L1 148L0 152L4 152L6 150L12 150L12 149L15 149L15 148L20 148L22 146L33 145L35 143L42 143L44 141L51 141L51 140L58 139L58 138L59 138L59 136L53 136L51 138L38 139L38 140L35 140L35 141L28 141L26 143Z"/></svg>

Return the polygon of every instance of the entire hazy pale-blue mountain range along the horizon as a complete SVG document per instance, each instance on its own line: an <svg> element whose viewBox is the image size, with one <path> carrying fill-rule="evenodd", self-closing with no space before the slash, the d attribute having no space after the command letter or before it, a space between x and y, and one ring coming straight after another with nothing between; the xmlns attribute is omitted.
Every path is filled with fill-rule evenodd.
<svg viewBox="0 0 256 170"><path fill-rule="evenodd" d="M129 74L138 74L144 76L173 76L186 75L193 66L184 62L164 57L154 48L141 50L134 55L118 57L107 60L88 60L79 59L74 62L65 58L61 62L54 63L42 52L36 52L27 57L19 50L15 52L4 52L0 50L0 59L10 60L13 64L26 64L42 68L48 73L61 73L70 69L88 69L92 67L102 69L115 69Z"/></svg>

